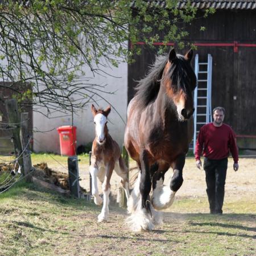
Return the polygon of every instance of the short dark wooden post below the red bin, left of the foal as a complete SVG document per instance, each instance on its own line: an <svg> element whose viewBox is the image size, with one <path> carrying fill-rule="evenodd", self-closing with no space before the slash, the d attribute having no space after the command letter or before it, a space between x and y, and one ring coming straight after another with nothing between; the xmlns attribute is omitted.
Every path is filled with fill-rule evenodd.
<svg viewBox="0 0 256 256"><path fill-rule="evenodd" d="M80 185L79 185L79 168L77 164L77 156L68 157L68 181L69 190L71 194L80 198Z"/></svg>

